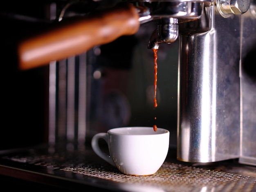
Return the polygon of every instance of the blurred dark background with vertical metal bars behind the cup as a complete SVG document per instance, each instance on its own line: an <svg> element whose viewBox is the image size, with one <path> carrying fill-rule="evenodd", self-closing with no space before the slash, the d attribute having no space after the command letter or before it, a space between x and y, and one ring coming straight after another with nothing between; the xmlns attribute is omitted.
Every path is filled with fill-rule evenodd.
<svg viewBox="0 0 256 192"><path fill-rule="evenodd" d="M153 125L169 129L171 145L176 145L178 41L161 44L158 50L155 108L154 58L147 49L153 22L142 24L133 36L122 36L79 56L18 69L18 42L54 25L68 2L25 0L0 6L4 114L0 150L37 145L51 138L56 141L56 135L65 139L70 130L74 132L71 138L79 138L82 132L80 137L90 141L95 133L110 128ZM63 20L87 14L95 6L92 1L77 1L65 8ZM49 91L52 85L54 94ZM84 120L83 126L79 119Z"/></svg>

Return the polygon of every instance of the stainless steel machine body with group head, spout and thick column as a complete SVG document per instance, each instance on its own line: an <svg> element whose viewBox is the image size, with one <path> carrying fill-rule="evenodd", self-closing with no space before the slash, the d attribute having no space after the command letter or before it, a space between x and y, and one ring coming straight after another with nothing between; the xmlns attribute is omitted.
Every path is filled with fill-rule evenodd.
<svg viewBox="0 0 256 192"><path fill-rule="evenodd" d="M179 160L240 158L240 163L256 165L256 83L248 67L252 61L247 59L249 53L255 54L255 4L255 0L135 4L144 6L141 18L157 22L149 49L172 43L179 36Z"/></svg>

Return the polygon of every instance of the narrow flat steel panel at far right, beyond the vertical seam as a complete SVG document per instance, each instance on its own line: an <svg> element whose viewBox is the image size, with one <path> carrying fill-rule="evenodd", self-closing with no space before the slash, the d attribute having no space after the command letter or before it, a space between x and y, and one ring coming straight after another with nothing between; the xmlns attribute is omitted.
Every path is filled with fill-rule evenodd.
<svg viewBox="0 0 256 192"><path fill-rule="evenodd" d="M256 75L252 68L256 58L256 1L241 18L241 133L240 163L256 165Z"/></svg>

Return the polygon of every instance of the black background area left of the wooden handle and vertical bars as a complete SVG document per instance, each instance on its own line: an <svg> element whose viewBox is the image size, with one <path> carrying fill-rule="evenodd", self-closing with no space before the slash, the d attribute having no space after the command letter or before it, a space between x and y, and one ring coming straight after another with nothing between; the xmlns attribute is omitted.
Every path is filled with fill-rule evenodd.
<svg viewBox="0 0 256 192"><path fill-rule="evenodd" d="M38 20L22 19L21 16ZM0 7L0 150L34 145L47 139L44 127L47 126L48 66L21 71L16 49L22 38L48 25L40 22L43 17L45 4L39 2L3 2Z"/></svg>

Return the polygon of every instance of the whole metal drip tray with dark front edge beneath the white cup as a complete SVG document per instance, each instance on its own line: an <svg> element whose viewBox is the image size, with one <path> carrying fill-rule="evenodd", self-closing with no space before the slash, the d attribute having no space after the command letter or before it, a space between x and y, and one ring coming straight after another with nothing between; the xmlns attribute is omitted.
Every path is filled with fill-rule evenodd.
<svg viewBox="0 0 256 192"><path fill-rule="evenodd" d="M51 148L0 153L0 174L73 190L95 187L127 192L254 192L256 167L237 159L218 163L185 163L170 149L156 174L130 176L119 172L91 149L49 152Z"/></svg>

